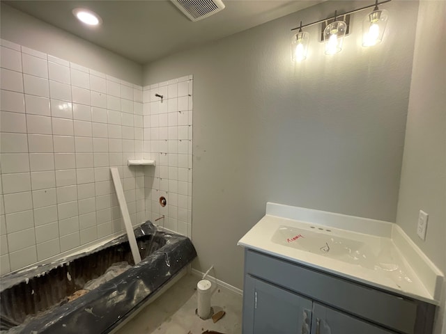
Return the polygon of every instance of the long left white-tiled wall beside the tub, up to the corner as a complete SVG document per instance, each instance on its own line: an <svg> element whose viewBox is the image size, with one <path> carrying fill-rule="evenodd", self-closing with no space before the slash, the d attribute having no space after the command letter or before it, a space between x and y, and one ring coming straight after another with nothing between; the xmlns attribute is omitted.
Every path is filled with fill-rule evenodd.
<svg viewBox="0 0 446 334"><path fill-rule="evenodd" d="M1 40L0 274L146 220L142 87ZM141 181L142 180L142 181ZM137 195L138 193L138 195ZM149 217L148 217L149 218Z"/></svg>

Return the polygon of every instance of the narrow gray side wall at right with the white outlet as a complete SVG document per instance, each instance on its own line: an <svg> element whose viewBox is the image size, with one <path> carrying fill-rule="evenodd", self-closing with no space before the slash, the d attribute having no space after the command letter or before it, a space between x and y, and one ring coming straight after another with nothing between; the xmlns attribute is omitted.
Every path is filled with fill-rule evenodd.
<svg viewBox="0 0 446 334"><path fill-rule="evenodd" d="M446 273L445 17L445 1L420 2L397 211L397 224L443 273ZM426 241L416 234L420 209L429 214ZM438 326L445 311L443 296ZM446 324L443 332L437 328L436 333L445 331Z"/></svg>

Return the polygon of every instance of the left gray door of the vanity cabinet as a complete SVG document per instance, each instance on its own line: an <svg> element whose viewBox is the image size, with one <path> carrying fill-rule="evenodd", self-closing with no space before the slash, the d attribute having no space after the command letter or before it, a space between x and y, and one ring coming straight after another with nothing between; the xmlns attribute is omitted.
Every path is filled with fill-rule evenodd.
<svg viewBox="0 0 446 334"><path fill-rule="evenodd" d="M245 276L243 334L309 334L312 301Z"/></svg>

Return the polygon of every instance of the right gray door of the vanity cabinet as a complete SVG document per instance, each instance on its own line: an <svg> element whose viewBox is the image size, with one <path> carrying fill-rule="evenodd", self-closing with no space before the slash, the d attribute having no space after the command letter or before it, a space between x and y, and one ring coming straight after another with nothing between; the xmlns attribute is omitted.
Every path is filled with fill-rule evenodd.
<svg viewBox="0 0 446 334"><path fill-rule="evenodd" d="M395 334L346 313L313 304L312 334Z"/></svg>

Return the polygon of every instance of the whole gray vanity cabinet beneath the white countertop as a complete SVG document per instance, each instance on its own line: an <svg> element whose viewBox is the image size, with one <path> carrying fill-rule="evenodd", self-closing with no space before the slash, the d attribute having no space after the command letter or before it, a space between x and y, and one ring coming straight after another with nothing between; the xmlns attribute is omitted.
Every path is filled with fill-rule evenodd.
<svg viewBox="0 0 446 334"><path fill-rule="evenodd" d="M245 249L243 334L431 334L435 306Z"/></svg>

